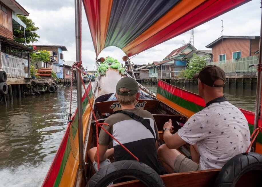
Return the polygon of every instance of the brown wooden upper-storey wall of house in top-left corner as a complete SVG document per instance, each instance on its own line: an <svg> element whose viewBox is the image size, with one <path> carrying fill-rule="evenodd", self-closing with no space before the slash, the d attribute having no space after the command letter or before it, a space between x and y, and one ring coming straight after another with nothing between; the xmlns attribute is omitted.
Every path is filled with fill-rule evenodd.
<svg viewBox="0 0 262 187"><path fill-rule="evenodd" d="M7 14L0 10L0 35L13 39L12 11L1 1L0 4L7 9Z"/></svg>

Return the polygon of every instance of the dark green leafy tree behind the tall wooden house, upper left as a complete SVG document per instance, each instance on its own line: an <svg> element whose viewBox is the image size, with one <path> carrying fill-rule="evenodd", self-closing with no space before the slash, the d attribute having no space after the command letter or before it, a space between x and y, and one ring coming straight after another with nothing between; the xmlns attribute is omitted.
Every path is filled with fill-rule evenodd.
<svg viewBox="0 0 262 187"><path fill-rule="evenodd" d="M14 40L22 44L29 44L38 41L37 38L40 38L40 36L38 36L35 31L37 31L39 27L35 27L35 23L31 19L28 19L26 16L17 15L17 17L19 17L19 19L21 19L21 21L25 23L26 29L24 36L24 29L20 30L13 28L13 35L15 36Z"/></svg>

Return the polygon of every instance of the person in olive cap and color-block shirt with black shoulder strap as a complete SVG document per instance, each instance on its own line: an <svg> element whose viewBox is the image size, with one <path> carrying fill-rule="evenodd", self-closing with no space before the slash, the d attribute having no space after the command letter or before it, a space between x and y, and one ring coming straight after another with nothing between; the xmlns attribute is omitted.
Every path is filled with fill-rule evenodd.
<svg viewBox="0 0 262 187"><path fill-rule="evenodd" d="M160 174L156 155L156 140L159 139L156 122L150 112L135 108L139 96L138 83L134 79L130 77L120 79L116 85L116 98L121 104L122 111L117 111L116 114L106 118L104 123L110 126L103 127L130 150L139 162L143 162ZM98 139L100 168L110 164L108 157L112 154L115 161L135 160L115 140L112 140L114 148L108 149L110 141L111 137L101 130ZM90 149L88 156L97 172L97 148Z"/></svg>

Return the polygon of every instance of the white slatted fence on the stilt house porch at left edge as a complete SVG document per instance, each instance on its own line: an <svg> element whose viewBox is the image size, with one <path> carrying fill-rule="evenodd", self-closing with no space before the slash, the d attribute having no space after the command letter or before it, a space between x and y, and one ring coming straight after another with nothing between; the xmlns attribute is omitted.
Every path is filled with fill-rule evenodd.
<svg viewBox="0 0 262 187"><path fill-rule="evenodd" d="M1 52L1 61L3 71L6 72L7 77L12 78L25 78L25 70L23 59Z"/></svg>

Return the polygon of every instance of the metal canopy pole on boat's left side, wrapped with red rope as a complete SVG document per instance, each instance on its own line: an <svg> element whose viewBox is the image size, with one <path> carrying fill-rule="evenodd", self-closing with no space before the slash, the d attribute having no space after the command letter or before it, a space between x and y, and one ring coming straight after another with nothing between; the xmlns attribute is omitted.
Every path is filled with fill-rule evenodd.
<svg viewBox="0 0 262 187"><path fill-rule="evenodd" d="M76 61L80 60L80 1L75 0L75 24L76 24ZM78 71L78 70L77 70ZM78 108L78 145L79 145L79 169L84 169L83 154L83 124L82 124L82 82L79 71L76 73L77 108Z"/></svg>

